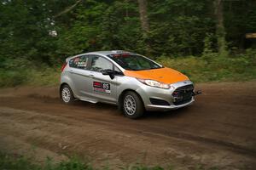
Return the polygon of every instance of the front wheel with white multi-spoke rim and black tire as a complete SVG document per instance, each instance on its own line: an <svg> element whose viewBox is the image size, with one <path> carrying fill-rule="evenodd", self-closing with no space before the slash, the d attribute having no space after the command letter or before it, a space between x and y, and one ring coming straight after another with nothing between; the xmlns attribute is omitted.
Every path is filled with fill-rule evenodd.
<svg viewBox="0 0 256 170"><path fill-rule="evenodd" d="M145 111L143 100L135 92L129 91L125 93L122 101L123 112L125 116L136 119L143 116Z"/></svg>

